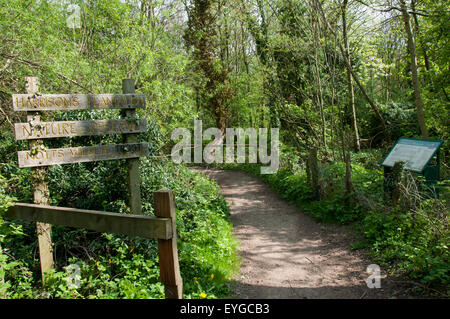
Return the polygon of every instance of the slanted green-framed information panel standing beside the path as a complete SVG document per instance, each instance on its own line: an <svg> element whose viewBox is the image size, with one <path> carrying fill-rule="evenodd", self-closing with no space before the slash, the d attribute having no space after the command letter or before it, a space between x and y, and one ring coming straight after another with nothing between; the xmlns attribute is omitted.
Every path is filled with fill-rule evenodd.
<svg viewBox="0 0 450 319"><path fill-rule="evenodd" d="M405 169L423 173L427 164L439 150L443 141L401 137L381 163L393 167L395 162L405 162Z"/></svg>

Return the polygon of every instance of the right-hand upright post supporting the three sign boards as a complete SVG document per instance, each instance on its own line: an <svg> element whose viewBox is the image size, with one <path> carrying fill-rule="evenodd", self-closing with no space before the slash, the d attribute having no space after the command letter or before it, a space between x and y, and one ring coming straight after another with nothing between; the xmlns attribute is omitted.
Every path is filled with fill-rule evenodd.
<svg viewBox="0 0 450 319"><path fill-rule="evenodd" d="M122 92L134 93L134 80L123 79L122 80ZM128 119L136 118L136 109L127 109L122 111L122 116ZM137 143L138 134L124 134L125 143ZM142 203L141 203L141 176L139 172L139 158L131 158L127 160L128 163L128 194L129 205L131 213L134 215L142 215Z"/></svg>

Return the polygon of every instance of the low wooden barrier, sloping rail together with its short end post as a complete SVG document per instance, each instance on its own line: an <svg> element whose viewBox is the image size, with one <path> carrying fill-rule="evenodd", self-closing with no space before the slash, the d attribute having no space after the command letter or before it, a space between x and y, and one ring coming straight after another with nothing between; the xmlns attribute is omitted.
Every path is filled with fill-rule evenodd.
<svg viewBox="0 0 450 319"><path fill-rule="evenodd" d="M69 207L15 203L3 216L98 232L157 238L161 282L167 299L183 298L183 281L178 264L176 215L173 191L154 193L155 216L130 215Z"/></svg>

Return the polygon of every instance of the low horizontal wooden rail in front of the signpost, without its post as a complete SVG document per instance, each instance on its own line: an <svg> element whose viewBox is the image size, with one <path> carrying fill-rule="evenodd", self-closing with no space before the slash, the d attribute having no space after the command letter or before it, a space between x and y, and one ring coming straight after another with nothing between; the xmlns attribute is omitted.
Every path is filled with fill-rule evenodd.
<svg viewBox="0 0 450 319"><path fill-rule="evenodd" d="M98 232L171 239L171 218L129 215L68 207L15 203L3 216L32 222L86 228Z"/></svg>

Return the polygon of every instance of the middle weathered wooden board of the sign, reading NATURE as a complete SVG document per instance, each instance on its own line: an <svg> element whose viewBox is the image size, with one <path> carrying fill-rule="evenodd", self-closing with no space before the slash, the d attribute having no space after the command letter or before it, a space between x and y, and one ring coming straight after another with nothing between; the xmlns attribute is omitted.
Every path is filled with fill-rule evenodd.
<svg viewBox="0 0 450 319"><path fill-rule="evenodd" d="M104 134L141 133L147 131L146 120L97 120L15 123L16 140L72 137Z"/></svg>

